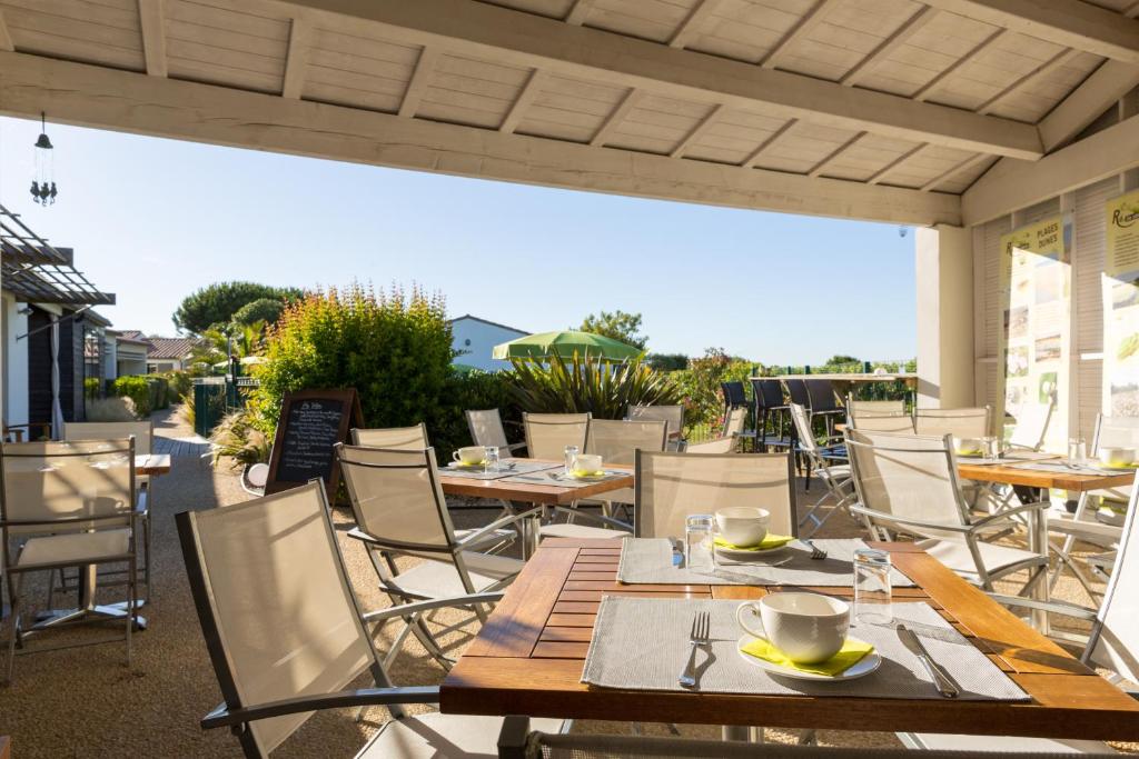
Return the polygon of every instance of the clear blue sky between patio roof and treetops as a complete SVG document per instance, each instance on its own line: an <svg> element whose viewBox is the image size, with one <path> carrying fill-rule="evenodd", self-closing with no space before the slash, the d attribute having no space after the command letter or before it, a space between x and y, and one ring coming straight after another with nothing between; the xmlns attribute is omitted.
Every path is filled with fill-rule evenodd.
<svg viewBox="0 0 1139 759"><path fill-rule="evenodd" d="M59 199L31 203L39 123L0 118L0 203L118 305L172 333L219 280L353 279L442 291L452 315L530 331L641 312L649 348L763 363L916 352L913 236L834 221L573 192L48 125ZM852 305L852 304L863 305Z"/></svg>

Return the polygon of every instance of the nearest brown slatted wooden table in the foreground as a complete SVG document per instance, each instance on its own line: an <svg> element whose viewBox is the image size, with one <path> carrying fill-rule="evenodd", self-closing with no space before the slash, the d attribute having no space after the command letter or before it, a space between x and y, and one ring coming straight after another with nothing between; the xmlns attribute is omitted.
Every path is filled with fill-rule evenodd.
<svg viewBox="0 0 1139 759"><path fill-rule="evenodd" d="M623 585L616 541L551 538L448 674L448 713L768 727L969 732L1137 741L1139 702L912 544L882 543L926 600L1016 680L1032 703L730 695L597 688L580 682L604 595L757 599L780 587ZM798 588L796 588L798 589ZM816 588L849 596L849 587ZM630 645L633 643L630 642Z"/></svg>

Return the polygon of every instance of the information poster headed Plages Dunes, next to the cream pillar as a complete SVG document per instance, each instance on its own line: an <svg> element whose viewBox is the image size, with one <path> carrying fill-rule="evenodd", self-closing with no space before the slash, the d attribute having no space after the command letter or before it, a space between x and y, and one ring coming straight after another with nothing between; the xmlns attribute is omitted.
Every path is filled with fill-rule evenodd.
<svg viewBox="0 0 1139 759"><path fill-rule="evenodd" d="M1001 412L1014 418L1030 405L1052 404L1044 447L1067 443L1072 218L1056 215L1005 234L1005 393Z"/></svg>

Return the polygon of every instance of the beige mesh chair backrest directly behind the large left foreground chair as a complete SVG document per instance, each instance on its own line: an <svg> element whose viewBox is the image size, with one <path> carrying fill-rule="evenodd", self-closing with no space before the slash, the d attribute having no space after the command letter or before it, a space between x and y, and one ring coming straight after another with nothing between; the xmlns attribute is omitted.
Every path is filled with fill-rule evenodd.
<svg viewBox="0 0 1139 759"><path fill-rule="evenodd" d="M435 469L435 449L371 448L338 444L336 455L352 514L380 545L445 558L454 528Z"/></svg>

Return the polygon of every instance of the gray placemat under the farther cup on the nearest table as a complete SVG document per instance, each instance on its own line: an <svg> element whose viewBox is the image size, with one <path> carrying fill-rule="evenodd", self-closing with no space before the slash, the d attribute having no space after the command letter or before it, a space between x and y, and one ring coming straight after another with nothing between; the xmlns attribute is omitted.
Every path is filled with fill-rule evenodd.
<svg viewBox="0 0 1139 759"><path fill-rule="evenodd" d="M617 580L659 585L854 585L854 552L867 548L858 538L820 538L813 543L827 552L827 558L811 559L811 550L798 541L755 562L718 559L715 571L673 567L672 542L667 538L636 538L624 542ZM896 568L892 571L894 587L915 587L913 580Z"/></svg>

